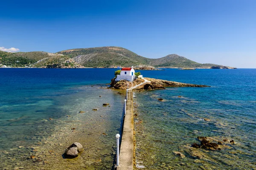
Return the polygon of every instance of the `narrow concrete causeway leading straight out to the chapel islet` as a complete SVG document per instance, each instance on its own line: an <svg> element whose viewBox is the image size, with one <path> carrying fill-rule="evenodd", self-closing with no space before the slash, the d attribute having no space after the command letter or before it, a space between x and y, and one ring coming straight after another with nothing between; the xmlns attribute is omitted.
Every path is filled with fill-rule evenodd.
<svg viewBox="0 0 256 170"><path fill-rule="evenodd" d="M119 166L116 170L133 170L134 157L134 120L133 120L133 93L128 91L126 115L122 132L122 143L119 153Z"/></svg>

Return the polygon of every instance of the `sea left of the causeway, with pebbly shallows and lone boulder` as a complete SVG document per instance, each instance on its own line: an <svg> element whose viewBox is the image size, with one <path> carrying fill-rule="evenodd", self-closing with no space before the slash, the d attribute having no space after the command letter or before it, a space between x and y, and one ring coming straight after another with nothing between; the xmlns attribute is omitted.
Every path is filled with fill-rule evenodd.
<svg viewBox="0 0 256 170"><path fill-rule="evenodd" d="M114 71L0 69L0 169L111 169L124 100L103 89ZM70 166L61 155L76 141L85 151Z"/></svg>

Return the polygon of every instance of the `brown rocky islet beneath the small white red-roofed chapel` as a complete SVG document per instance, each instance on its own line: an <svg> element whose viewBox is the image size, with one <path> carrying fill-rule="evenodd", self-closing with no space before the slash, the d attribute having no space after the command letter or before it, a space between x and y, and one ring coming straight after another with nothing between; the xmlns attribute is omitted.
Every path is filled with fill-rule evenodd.
<svg viewBox="0 0 256 170"><path fill-rule="evenodd" d="M153 79L153 78L144 78L150 82L146 82L143 85L140 85L136 88L136 90L154 90L154 89L165 89L166 87L210 87L207 85L195 85L189 83L182 83L182 82L173 82L168 80L162 79ZM144 82L144 79L135 79L132 83L133 86L139 85L140 83ZM116 78L111 79L110 88L125 90L127 89L127 84L131 87L131 82L127 80L120 80L116 81Z"/></svg>

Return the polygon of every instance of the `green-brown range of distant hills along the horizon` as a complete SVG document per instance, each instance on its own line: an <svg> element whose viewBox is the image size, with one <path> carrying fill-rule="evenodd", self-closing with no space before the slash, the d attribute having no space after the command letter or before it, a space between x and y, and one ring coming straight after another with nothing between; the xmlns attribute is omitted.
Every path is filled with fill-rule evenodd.
<svg viewBox="0 0 256 170"><path fill-rule="evenodd" d="M38 68L128 67L143 65L165 68L228 68L201 64L177 54L149 59L122 47L76 48L55 54L44 51L8 53L0 51L0 65Z"/></svg>

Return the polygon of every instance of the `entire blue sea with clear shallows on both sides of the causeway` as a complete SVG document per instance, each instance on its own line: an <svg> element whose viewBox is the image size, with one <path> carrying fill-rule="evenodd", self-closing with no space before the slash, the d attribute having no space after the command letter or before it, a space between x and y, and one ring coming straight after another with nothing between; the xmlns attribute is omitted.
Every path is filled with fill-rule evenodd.
<svg viewBox="0 0 256 170"><path fill-rule="evenodd" d="M57 147L54 159L67 166L61 153L73 142L68 138L76 136L87 146L76 164L111 169L112 136L120 131L125 96L104 88L116 70L0 68L0 169L51 169L47 166L56 163L51 164L52 152L44 153L47 144ZM256 169L256 69L140 72L143 77L211 87L134 92L138 169ZM225 144L221 151L193 150L191 144L200 143L197 136L233 139L235 144Z"/></svg>

